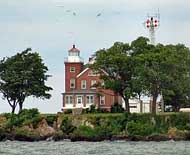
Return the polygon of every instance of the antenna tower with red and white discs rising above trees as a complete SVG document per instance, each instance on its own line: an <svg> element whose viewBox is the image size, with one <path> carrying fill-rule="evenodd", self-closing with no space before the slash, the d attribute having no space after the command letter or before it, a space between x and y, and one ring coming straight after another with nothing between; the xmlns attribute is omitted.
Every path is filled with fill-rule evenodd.
<svg viewBox="0 0 190 155"><path fill-rule="evenodd" d="M147 15L147 20L144 22L145 27L149 30L150 43L155 45L155 30L160 26L160 14L158 13Z"/></svg>

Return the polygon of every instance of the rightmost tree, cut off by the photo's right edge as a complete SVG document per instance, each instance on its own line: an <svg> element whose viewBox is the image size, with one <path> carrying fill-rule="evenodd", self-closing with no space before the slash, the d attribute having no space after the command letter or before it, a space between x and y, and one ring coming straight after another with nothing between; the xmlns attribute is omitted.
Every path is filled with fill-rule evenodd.
<svg viewBox="0 0 190 155"><path fill-rule="evenodd" d="M185 45L167 45L168 74L171 77L163 90L164 103L172 105L174 111L181 106L190 106L190 50Z"/></svg>

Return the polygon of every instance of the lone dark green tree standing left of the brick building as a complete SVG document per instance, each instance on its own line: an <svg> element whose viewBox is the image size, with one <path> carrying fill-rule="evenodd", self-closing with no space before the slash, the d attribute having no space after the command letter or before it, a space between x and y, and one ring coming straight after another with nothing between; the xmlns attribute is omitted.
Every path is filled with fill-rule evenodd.
<svg viewBox="0 0 190 155"><path fill-rule="evenodd" d="M46 75L48 68L37 52L29 51L31 49L27 48L0 61L0 92L11 106L12 113L15 112L17 104L19 111L22 110L28 96L42 99L51 97L47 92L52 88L45 85L49 77Z"/></svg>

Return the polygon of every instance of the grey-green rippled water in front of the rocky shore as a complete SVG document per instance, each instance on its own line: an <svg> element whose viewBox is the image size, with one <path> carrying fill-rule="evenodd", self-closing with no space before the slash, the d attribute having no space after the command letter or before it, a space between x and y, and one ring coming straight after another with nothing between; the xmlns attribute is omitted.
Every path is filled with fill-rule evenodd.
<svg viewBox="0 0 190 155"><path fill-rule="evenodd" d="M190 155L190 142L0 142L0 155Z"/></svg>

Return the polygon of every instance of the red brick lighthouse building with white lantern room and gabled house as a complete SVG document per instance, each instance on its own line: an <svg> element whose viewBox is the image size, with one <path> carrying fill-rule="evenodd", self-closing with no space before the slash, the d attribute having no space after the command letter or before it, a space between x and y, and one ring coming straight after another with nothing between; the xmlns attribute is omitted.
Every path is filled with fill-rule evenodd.
<svg viewBox="0 0 190 155"><path fill-rule="evenodd" d="M88 63L93 63L93 59ZM65 60L65 93L63 93L63 111L74 108L89 108L95 105L110 111L111 105L122 99L111 90L95 87L103 82L99 74L84 65L80 51L73 45Z"/></svg>

